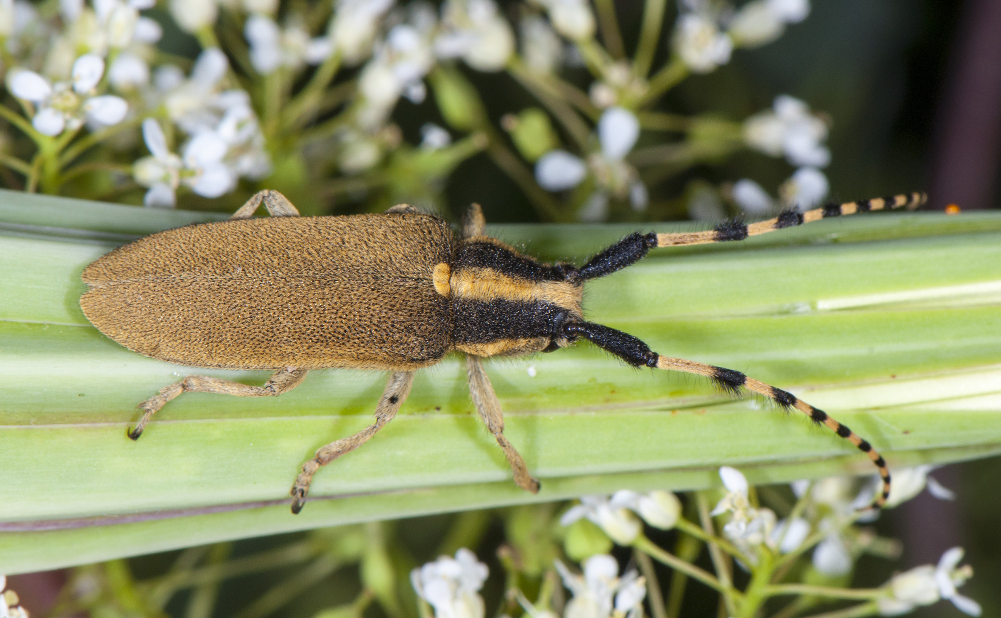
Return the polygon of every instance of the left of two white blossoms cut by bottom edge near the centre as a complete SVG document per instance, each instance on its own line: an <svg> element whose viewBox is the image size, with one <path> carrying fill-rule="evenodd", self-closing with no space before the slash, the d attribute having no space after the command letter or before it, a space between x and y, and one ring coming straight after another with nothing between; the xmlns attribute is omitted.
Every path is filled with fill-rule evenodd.
<svg viewBox="0 0 1001 618"><path fill-rule="evenodd" d="M487 574L486 565L463 547L454 558L441 556L410 571L410 583L436 618L483 618L483 599L476 592Z"/></svg>

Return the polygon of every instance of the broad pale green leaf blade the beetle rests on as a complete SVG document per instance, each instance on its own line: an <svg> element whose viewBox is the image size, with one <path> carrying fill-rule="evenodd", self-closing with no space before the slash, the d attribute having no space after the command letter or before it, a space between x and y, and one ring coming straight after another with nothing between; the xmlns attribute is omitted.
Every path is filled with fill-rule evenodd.
<svg viewBox="0 0 1001 618"><path fill-rule="evenodd" d="M1001 451L999 214L867 215L656 250L589 284L586 310L663 354L793 391L869 439L891 468L986 456ZM292 516L298 466L371 421L384 375L317 371L273 399L185 394L133 443L125 428L136 404L192 370L109 341L77 305L81 270L116 242L216 218L0 193L0 572L623 488L708 487L723 464L753 483L873 472L802 415L582 344L487 363L506 433L540 494L511 481L449 357L418 374L371 442L320 470L314 499ZM580 263L637 227L695 229L489 233Z"/></svg>

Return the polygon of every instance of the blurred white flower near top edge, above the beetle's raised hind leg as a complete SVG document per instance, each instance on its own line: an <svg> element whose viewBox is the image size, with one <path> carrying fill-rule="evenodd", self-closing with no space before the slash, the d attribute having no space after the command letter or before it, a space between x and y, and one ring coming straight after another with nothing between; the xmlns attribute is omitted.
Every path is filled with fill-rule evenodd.
<svg viewBox="0 0 1001 618"><path fill-rule="evenodd" d="M332 51L327 37L309 38L305 27L294 19L279 29L273 19L255 13L247 18L243 34L250 44L250 64L262 75L279 67L297 69L303 63L319 64Z"/></svg>

